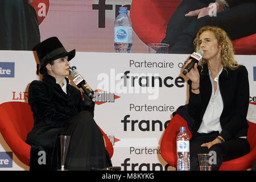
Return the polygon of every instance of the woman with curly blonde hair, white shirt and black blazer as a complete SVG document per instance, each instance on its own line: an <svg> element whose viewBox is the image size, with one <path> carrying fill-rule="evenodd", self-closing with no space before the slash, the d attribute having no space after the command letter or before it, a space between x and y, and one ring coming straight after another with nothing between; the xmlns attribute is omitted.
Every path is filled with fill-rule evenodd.
<svg viewBox="0 0 256 182"><path fill-rule="evenodd" d="M212 169L222 162L246 155L248 73L234 60L232 42L218 27L202 27L195 49L204 51L203 60L187 73L188 113L194 119L190 140L191 170L199 169L197 154L214 151ZM184 68L189 64L188 60Z"/></svg>

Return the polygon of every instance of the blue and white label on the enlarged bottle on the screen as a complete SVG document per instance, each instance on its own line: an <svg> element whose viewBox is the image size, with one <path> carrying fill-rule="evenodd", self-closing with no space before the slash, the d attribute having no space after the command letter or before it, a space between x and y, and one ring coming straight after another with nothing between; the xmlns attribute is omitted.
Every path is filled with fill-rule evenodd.
<svg viewBox="0 0 256 182"><path fill-rule="evenodd" d="M114 42L117 43L132 43L133 28L117 26L114 27Z"/></svg>

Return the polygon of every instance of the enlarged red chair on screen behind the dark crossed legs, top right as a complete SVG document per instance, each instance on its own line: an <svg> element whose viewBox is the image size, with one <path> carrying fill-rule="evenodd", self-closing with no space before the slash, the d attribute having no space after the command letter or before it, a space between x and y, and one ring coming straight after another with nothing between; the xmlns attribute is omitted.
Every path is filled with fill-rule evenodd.
<svg viewBox="0 0 256 182"><path fill-rule="evenodd" d="M133 30L143 43L160 43L166 36L171 15L181 0L133 0L130 17ZM256 54L256 34L233 40L238 55Z"/></svg>

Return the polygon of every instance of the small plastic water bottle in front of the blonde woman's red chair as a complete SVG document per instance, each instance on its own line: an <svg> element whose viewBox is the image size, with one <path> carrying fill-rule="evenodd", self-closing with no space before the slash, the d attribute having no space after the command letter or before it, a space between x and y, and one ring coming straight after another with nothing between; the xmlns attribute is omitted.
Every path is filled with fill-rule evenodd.
<svg viewBox="0 0 256 182"><path fill-rule="evenodd" d="M189 136L186 133L186 127L180 127L180 133L177 135L177 171L189 171Z"/></svg>

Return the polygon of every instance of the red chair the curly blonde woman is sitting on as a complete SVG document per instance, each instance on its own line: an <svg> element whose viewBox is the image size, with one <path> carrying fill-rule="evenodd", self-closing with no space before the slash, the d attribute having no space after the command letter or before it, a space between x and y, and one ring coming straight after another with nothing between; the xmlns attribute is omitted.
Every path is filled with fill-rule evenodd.
<svg viewBox="0 0 256 182"><path fill-rule="evenodd" d="M250 143L250 153L241 158L223 162L219 169L220 171L242 171L253 166L254 160L256 159L256 124L252 122L248 123L247 140ZM191 138L187 122L179 114L175 114L168 124L166 131L164 131L160 144L163 159L173 167L177 167L176 136L179 133L180 126L187 128L187 134Z"/></svg>

